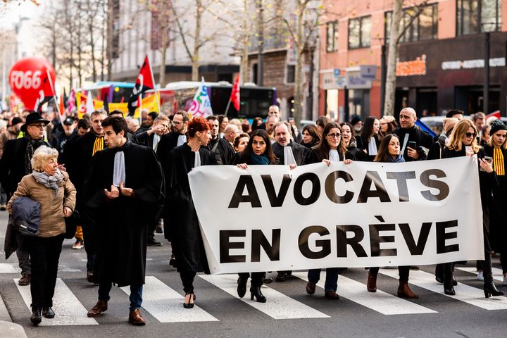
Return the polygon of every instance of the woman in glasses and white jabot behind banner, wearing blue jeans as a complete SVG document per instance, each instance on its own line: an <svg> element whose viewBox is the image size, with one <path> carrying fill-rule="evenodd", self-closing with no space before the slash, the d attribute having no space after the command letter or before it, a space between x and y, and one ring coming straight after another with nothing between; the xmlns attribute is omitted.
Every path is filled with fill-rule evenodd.
<svg viewBox="0 0 507 338"><path fill-rule="evenodd" d="M303 165L311 163L343 162L345 164L352 163L353 156L346 150L346 146L342 139L342 128L337 123L327 123L323 130L323 137L320 142L314 146L311 151L303 159ZM315 285L320 279L321 269L308 270L308 283L306 284L306 293L315 294ZM326 279L324 284L324 296L327 299L339 299L338 273L340 268L327 268Z"/></svg>

